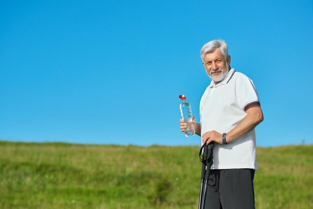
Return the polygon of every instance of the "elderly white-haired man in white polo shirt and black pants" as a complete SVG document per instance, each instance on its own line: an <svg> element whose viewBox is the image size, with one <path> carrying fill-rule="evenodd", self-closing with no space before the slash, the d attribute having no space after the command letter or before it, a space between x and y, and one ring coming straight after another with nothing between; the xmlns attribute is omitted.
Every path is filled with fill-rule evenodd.
<svg viewBox="0 0 313 209"><path fill-rule="evenodd" d="M256 88L230 68L223 40L204 44L200 56L211 83L200 100L200 123L193 118L193 124L202 143L214 141L205 208L254 208L254 127L263 120ZM184 131L186 123L179 122Z"/></svg>

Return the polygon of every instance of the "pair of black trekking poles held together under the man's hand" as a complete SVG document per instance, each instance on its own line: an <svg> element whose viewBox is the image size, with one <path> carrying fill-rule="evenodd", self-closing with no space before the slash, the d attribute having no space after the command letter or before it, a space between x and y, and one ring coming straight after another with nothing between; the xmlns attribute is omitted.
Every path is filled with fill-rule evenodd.
<svg viewBox="0 0 313 209"><path fill-rule="evenodd" d="M201 155L203 147L204 147L203 155L202 155L203 158L201 158L200 155ZM204 206L205 206L205 197L206 197L206 189L207 189L209 171L213 163L213 148L214 148L214 142L211 141L208 145L204 143L202 147L200 148L200 152L199 152L199 158L200 158L200 161L202 162L202 170L201 170L201 186L200 186L198 209L204 209ZM204 188L203 188L203 181L204 181Z"/></svg>

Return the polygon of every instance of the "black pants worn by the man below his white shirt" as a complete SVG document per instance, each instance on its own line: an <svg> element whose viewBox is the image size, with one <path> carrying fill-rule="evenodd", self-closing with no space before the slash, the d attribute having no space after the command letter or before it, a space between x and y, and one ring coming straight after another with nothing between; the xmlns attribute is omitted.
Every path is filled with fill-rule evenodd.
<svg viewBox="0 0 313 209"><path fill-rule="evenodd" d="M253 169L212 169L205 209L254 209Z"/></svg>

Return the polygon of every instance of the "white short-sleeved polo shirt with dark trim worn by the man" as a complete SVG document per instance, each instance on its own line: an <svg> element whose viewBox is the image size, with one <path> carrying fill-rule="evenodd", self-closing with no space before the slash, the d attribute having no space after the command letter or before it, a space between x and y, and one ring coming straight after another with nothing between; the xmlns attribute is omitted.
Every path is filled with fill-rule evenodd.
<svg viewBox="0 0 313 209"><path fill-rule="evenodd" d="M252 80L231 68L216 85L211 81L201 97L201 135L211 130L227 133L241 122L247 114L244 108L253 102L259 99ZM230 168L257 169L254 128L227 144L215 142L211 169Z"/></svg>

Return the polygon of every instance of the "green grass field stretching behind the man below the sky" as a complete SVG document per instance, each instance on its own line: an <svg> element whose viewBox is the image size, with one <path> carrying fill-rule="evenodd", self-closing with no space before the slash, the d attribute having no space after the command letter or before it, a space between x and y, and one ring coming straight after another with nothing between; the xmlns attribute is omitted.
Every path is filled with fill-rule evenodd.
<svg viewBox="0 0 313 209"><path fill-rule="evenodd" d="M198 146L0 141L0 208L197 208ZM313 208L313 145L257 148L256 208Z"/></svg>

